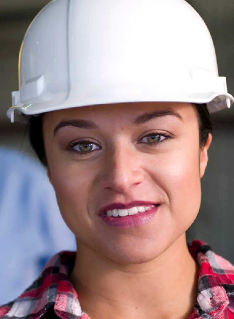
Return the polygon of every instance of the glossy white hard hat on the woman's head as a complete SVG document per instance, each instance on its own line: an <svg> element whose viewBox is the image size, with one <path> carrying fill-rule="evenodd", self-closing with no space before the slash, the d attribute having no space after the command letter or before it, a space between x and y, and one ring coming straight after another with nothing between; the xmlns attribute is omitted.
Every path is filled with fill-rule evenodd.
<svg viewBox="0 0 234 319"><path fill-rule="evenodd" d="M25 35L7 115L145 101L230 108L198 13L185 0L53 0Z"/></svg>

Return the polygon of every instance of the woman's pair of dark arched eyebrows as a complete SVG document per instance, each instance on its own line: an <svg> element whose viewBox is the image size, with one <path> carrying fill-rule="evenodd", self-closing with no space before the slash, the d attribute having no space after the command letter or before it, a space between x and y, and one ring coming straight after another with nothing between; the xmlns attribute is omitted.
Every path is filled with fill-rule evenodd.
<svg viewBox="0 0 234 319"><path fill-rule="evenodd" d="M137 124L143 124L146 123L150 120L153 120L157 117L162 117L162 116L167 116L167 115L172 115L172 116L176 116L177 118L179 118L181 121L183 121L182 116L172 110L161 110L161 111L154 111L154 112L147 112L144 113L142 115L137 116L134 120L133 120L133 124L137 125ZM86 130L94 130L97 129L98 126L89 120L67 120L67 121L61 121L56 128L54 129L54 135L56 135L57 131L59 129L61 129L62 127L66 127L66 126L74 126L74 127L78 127L79 129L86 129Z"/></svg>

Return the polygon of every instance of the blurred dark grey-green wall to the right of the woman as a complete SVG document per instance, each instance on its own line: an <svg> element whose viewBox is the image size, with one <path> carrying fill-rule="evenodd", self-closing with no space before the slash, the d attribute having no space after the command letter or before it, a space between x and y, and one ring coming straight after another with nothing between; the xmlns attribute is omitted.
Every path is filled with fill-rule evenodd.
<svg viewBox="0 0 234 319"><path fill-rule="evenodd" d="M234 1L188 1L211 32L219 73L227 77L234 95ZM234 108L214 116L215 130L209 163L202 179L202 202L187 237L210 243L215 251L234 263Z"/></svg>

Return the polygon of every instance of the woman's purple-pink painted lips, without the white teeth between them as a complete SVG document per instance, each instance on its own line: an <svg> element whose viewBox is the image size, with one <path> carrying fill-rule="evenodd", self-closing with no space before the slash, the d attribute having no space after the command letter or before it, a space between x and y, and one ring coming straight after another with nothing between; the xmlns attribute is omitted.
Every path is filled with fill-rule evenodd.
<svg viewBox="0 0 234 319"><path fill-rule="evenodd" d="M107 216L106 212L111 211L114 209L130 209L136 206L149 206L150 208L146 212L138 212L136 215L132 216L125 216L125 217L109 217ZM156 214L160 204L155 204L152 202L143 202L143 201L134 201L129 204L122 204L122 203L114 203L103 207L99 211L99 217L102 221L112 227L121 227L121 228L128 228L128 227L136 227L141 226L149 222Z"/></svg>

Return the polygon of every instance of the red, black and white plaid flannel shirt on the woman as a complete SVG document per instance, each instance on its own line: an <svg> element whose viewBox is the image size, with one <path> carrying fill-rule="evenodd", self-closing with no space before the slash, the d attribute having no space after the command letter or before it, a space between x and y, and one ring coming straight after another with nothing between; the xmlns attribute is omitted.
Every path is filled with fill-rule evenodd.
<svg viewBox="0 0 234 319"><path fill-rule="evenodd" d="M198 298L189 319L234 319L234 266L201 241L190 242L188 248L200 265ZM54 256L32 286L13 302L0 307L0 318L89 319L69 279L75 256L73 252Z"/></svg>

